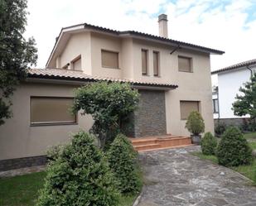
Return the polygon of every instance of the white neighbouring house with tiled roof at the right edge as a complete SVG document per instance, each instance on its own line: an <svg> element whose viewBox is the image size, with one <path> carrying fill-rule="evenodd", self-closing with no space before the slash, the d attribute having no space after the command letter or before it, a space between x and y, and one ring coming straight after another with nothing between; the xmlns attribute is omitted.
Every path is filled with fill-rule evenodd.
<svg viewBox="0 0 256 206"><path fill-rule="evenodd" d="M239 93L239 88L249 81L251 75L256 72L256 59L230 65L223 69L211 72L218 75L218 87L213 93L214 119L215 122L225 122L226 125L242 125L244 117L234 115L232 103Z"/></svg>

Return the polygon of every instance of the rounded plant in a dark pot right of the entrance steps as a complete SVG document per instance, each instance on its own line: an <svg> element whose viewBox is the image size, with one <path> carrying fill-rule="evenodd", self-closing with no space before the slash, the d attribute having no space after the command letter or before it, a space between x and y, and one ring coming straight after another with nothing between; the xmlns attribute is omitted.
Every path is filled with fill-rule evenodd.
<svg viewBox="0 0 256 206"><path fill-rule="evenodd" d="M205 122L200 113L193 111L186 120L186 129L191 132L193 144L200 144L200 133L205 132Z"/></svg>

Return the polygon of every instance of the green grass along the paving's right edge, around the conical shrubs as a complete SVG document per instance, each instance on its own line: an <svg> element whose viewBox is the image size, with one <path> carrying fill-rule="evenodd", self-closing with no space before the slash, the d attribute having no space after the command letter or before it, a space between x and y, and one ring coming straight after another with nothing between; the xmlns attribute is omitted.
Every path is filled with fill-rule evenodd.
<svg viewBox="0 0 256 206"><path fill-rule="evenodd" d="M200 151L191 152L191 155L198 156L202 160L210 160L213 163L218 164L218 159L216 156L205 156ZM250 165L234 166L234 167L230 167L230 169L239 172L240 174L248 177L250 180L253 180L254 184L256 185L256 159L255 158Z"/></svg>

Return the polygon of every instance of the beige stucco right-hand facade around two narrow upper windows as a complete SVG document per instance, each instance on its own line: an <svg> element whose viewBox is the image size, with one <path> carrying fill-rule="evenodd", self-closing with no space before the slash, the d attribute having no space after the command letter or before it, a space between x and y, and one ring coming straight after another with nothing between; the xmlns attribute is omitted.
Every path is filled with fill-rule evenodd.
<svg viewBox="0 0 256 206"><path fill-rule="evenodd" d="M148 50L147 76L142 75L141 50ZM192 51L176 50L170 55L171 46L147 41L133 41L133 79L157 83L177 84L178 88L166 92L167 133L189 135L186 121L181 120L180 101L200 101L200 113L205 120L205 132L214 132L211 100L210 55ZM153 76L152 51L160 54L160 76ZM192 58L192 73L178 70L178 55Z"/></svg>

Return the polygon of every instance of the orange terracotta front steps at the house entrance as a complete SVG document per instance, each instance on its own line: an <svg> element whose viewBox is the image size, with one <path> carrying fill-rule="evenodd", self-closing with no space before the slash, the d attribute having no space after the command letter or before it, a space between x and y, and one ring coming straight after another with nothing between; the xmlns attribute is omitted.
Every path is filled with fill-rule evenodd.
<svg viewBox="0 0 256 206"><path fill-rule="evenodd" d="M180 146L191 146L191 137L164 135L157 137L130 138L137 151L156 151Z"/></svg>

